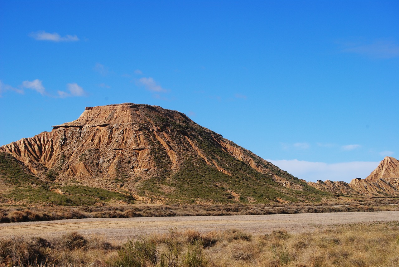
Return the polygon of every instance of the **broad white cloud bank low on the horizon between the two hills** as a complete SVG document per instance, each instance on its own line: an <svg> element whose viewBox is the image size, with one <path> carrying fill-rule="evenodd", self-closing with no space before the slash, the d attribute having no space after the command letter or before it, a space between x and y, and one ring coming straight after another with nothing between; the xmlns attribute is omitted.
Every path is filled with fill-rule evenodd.
<svg viewBox="0 0 399 267"><path fill-rule="evenodd" d="M304 160L268 160L282 170L308 182L332 180L350 182L366 178L379 162L353 161L340 163L310 162Z"/></svg>

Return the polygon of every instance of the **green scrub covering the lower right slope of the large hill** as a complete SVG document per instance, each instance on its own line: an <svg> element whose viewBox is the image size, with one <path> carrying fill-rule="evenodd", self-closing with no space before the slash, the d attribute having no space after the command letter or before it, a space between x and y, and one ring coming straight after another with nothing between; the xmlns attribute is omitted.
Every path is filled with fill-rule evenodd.
<svg viewBox="0 0 399 267"><path fill-rule="evenodd" d="M186 203L194 203L197 200L234 203L234 197L228 191L239 194L241 203L273 203L277 202L277 199L286 202L304 200L319 202L323 196L331 196L308 185L303 185L302 191L282 188L271 178L248 168L244 162L226 153L220 153L219 159L216 158L215 161L218 161L218 164L231 175L207 165L201 158L189 157L180 170L172 174L169 179L165 179L163 172L162 177L143 180L137 187L138 191L143 195L163 195L171 201ZM160 190L161 185L176 190L166 193Z"/></svg>

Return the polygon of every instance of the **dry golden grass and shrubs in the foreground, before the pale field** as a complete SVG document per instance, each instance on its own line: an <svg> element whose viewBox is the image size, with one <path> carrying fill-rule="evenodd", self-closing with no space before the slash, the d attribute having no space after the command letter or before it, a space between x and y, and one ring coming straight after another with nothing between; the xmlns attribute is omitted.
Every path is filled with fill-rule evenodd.
<svg viewBox="0 0 399 267"><path fill-rule="evenodd" d="M229 229L144 235L115 246L69 233L0 240L0 266L399 266L399 222L334 225L308 233Z"/></svg>

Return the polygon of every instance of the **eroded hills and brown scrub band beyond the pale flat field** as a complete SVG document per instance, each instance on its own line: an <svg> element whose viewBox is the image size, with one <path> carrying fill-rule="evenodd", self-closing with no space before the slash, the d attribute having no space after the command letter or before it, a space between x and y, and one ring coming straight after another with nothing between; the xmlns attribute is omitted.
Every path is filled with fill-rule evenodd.
<svg viewBox="0 0 399 267"><path fill-rule="evenodd" d="M0 147L0 222L389 211L398 177L385 157L365 179L306 182L178 111L87 107Z"/></svg>

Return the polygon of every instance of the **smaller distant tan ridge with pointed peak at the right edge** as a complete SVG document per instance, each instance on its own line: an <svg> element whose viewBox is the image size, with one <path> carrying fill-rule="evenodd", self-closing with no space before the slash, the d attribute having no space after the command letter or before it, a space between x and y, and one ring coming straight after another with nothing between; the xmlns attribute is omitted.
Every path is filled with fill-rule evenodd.
<svg viewBox="0 0 399 267"><path fill-rule="evenodd" d="M365 179L352 179L349 184L330 180L317 183L308 182L308 184L334 194L399 196L399 161L387 156Z"/></svg>

